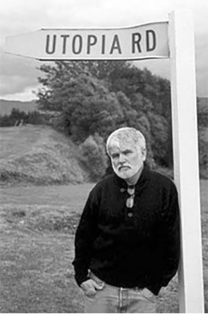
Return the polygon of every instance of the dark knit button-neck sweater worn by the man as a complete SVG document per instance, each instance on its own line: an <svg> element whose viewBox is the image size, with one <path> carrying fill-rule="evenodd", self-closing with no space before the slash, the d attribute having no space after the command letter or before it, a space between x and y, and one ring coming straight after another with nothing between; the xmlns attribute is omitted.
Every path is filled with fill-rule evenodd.
<svg viewBox="0 0 208 314"><path fill-rule="evenodd" d="M127 184L115 174L89 193L76 231L76 281L89 270L112 286L148 288L155 295L177 272L180 218L175 185L147 166L125 206ZM130 214L129 214L130 213Z"/></svg>

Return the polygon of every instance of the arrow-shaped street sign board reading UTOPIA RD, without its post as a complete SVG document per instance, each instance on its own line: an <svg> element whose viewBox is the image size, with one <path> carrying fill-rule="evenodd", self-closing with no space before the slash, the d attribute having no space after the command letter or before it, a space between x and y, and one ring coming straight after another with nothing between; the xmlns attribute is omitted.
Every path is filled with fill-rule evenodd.
<svg viewBox="0 0 208 314"><path fill-rule="evenodd" d="M168 58L168 22L128 28L44 28L7 37L5 52L38 60Z"/></svg>

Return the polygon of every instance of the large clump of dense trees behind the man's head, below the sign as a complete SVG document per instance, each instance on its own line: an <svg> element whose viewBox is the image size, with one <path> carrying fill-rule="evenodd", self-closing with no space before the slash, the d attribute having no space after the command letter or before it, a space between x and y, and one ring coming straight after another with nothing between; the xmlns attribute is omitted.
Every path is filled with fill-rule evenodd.
<svg viewBox="0 0 208 314"><path fill-rule="evenodd" d="M42 65L41 110L59 113L56 126L77 143L132 126L144 133L148 160L172 164L170 82L125 61Z"/></svg>

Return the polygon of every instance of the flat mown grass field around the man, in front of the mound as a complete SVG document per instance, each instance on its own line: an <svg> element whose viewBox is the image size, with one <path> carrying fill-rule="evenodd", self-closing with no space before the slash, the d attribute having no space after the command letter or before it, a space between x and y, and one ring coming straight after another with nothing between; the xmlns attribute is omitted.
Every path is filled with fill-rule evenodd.
<svg viewBox="0 0 208 314"><path fill-rule="evenodd" d="M1 188L1 313L83 313L73 279L74 232L93 184ZM201 181L207 290L207 181ZM207 313L206 296L206 313ZM157 313L178 313L177 279L163 288Z"/></svg>

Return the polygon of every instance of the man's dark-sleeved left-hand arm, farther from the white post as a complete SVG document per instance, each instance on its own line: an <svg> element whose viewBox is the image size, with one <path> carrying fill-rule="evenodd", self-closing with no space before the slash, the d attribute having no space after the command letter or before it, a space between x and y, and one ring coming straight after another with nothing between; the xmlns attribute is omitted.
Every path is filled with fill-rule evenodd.
<svg viewBox="0 0 208 314"><path fill-rule="evenodd" d="M89 261L97 232L96 208L96 203L92 195L89 194L75 236L75 259L73 260L73 267L75 270L75 279L79 286L83 281L89 279L87 277Z"/></svg>

